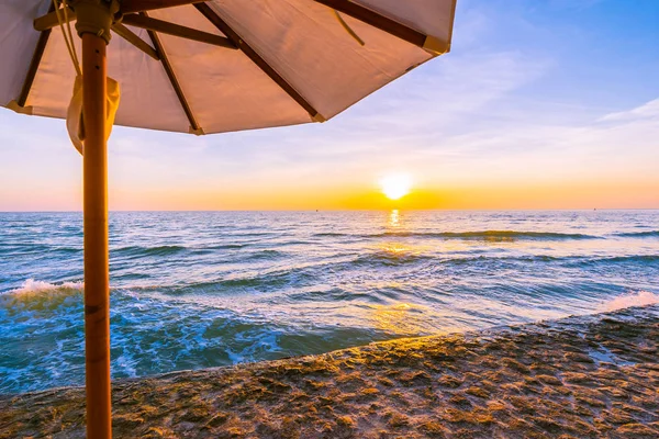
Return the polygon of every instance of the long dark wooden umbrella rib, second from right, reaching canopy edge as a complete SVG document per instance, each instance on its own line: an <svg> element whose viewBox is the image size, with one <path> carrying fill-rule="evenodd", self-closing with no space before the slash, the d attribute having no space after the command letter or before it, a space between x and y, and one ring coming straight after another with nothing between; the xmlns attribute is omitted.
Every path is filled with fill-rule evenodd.
<svg viewBox="0 0 659 439"><path fill-rule="evenodd" d="M273 80L283 91L298 102L316 122L324 122L325 117L313 108L281 75L277 72L249 44L245 42L224 20L217 15L206 3L196 3L194 8L206 18L215 27L228 37L264 74Z"/></svg>

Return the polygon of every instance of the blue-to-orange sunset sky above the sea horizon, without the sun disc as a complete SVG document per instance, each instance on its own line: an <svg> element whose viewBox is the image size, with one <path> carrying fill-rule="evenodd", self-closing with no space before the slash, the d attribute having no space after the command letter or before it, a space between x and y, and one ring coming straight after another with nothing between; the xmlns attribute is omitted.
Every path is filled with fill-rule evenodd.
<svg viewBox="0 0 659 439"><path fill-rule="evenodd" d="M458 0L451 53L326 123L115 127L110 210L659 209L658 42L657 0ZM64 121L0 109L0 211L81 178Z"/></svg>

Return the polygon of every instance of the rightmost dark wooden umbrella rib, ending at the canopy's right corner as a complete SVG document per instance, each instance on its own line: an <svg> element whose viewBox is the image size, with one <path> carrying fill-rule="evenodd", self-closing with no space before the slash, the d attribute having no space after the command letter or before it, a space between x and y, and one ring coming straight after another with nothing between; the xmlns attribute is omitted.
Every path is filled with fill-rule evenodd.
<svg viewBox="0 0 659 439"><path fill-rule="evenodd" d="M434 36L426 35L412 27L409 27L395 20L384 16L373 10L354 3L349 0L314 0L316 3L324 4L349 15L362 23L384 31L390 35L396 36L417 47L431 49L436 53L448 52L448 43L442 42Z"/></svg>

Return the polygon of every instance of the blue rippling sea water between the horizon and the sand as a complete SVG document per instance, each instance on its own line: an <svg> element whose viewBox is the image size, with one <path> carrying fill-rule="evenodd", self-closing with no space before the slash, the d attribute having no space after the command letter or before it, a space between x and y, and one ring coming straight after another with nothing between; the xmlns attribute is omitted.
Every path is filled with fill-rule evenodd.
<svg viewBox="0 0 659 439"><path fill-rule="evenodd" d="M116 212L113 378L659 302L659 211ZM82 217L0 213L0 393L82 384Z"/></svg>

